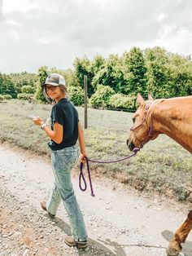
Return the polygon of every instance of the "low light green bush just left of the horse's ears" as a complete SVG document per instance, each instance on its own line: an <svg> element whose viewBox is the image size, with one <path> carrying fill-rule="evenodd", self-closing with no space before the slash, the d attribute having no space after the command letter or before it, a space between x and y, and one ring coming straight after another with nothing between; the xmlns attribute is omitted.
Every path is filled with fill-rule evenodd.
<svg viewBox="0 0 192 256"><path fill-rule="evenodd" d="M122 94L111 95L109 104L111 108L133 109L136 96Z"/></svg>

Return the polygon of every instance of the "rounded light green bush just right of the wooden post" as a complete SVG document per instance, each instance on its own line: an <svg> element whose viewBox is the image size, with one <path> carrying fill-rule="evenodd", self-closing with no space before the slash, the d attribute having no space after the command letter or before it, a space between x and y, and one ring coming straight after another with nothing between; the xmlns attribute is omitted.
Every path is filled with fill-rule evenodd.
<svg viewBox="0 0 192 256"><path fill-rule="evenodd" d="M94 108L106 108L109 105L111 95L115 94L110 86L98 85L96 92L90 98L90 104Z"/></svg>

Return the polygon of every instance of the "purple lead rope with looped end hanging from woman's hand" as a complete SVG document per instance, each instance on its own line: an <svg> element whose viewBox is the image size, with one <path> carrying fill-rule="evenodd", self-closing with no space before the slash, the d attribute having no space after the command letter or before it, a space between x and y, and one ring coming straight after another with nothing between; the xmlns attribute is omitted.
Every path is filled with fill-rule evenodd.
<svg viewBox="0 0 192 256"><path fill-rule="evenodd" d="M90 185L90 190L91 190L91 196L94 196L94 188L92 186L91 177L90 177L89 161L92 161L94 163L100 163L100 164L116 163L118 161L124 161L126 159L129 159L130 157L135 156L139 150L140 150L140 148L134 148L133 153L131 155L129 155L128 157L123 157L123 158L120 158L120 159L117 159L117 160L111 160L111 161L99 161L99 160L88 159L87 157L85 157L87 172L88 172L88 177L89 177L89 185ZM83 180L83 183L84 183L84 186L85 186L84 188L82 188L82 186L81 186L81 180ZM81 191L83 191L83 192L87 189L85 176L83 174L83 163L82 162L80 163L79 187L80 187Z"/></svg>

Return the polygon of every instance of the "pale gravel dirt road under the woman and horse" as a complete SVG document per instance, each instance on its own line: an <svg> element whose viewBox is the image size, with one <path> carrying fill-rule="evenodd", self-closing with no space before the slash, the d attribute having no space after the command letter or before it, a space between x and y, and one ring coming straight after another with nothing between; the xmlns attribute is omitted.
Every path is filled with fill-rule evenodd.
<svg viewBox="0 0 192 256"><path fill-rule="evenodd" d="M185 220L190 205L180 205L108 180L93 178L95 197L81 192L78 170L72 173L76 197L89 232L89 247L68 248L70 231L63 208L50 219L40 208L49 194L50 162L18 148L0 146L0 255L166 255L165 248ZM192 235L181 255L192 255Z"/></svg>

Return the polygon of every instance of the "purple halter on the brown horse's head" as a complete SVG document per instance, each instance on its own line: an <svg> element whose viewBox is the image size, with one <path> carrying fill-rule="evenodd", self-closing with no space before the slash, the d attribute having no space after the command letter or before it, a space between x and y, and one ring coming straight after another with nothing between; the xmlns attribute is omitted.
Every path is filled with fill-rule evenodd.
<svg viewBox="0 0 192 256"><path fill-rule="evenodd" d="M148 132L148 135L147 135L146 140L142 141L142 139L138 139L137 135L135 134L135 130L136 130L138 127L142 126L142 124L143 124L145 121L146 121L146 126L147 126L146 115L147 115L147 113L148 113L148 110L149 110L149 108L150 108L150 105L151 105L151 104L147 104L146 107L145 107L144 117L142 118L141 124L137 125L137 126L134 127L134 128L132 127L132 128L130 129L131 131L133 131L133 135L134 135L135 139L137 139L137 140L141 143L141 146L140 146L139 148L142 148L142 147L143 147L143 145L146 143L146 141L151 138L151 135L152 135L152 133L153 133L153 121L152 121L152 116L151 116L151 126L149 127L149 132Z"/></svg>

